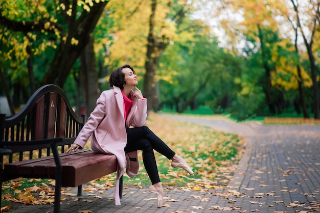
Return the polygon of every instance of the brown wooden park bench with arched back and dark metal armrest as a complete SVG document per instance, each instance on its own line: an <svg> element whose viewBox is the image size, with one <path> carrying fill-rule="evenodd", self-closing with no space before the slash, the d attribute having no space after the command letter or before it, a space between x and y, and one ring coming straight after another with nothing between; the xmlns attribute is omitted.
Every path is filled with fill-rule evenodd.
<svg viewBox="0 0 320 213"><path fill-rule="evenodd" d="M55 179L54 212L60 212L61 186L78 187L81 196L82 184L117 171L115 155L86 149L64 153L83 125L84 115L75 114L55 85L39 88L15 116L1 114L1 183L18 177ZM119 192L121 198L122 178Z"/></svg>

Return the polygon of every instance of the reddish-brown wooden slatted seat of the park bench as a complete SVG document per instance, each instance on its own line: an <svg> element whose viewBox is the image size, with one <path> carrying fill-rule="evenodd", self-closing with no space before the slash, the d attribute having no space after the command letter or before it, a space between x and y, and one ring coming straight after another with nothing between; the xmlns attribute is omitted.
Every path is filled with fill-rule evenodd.
<svg viewBox="0 0 320 213"><path fill-rule="evenodd" d="M72 154L60 154L62 164L62 186L77 187L117 171L117 158L110 154L96 154L92 150L79 150ZM31 159L5 165L5 174L12 178L55 178L56 165L52 156ZM6 179L6 177L4 177Z"/></svg>

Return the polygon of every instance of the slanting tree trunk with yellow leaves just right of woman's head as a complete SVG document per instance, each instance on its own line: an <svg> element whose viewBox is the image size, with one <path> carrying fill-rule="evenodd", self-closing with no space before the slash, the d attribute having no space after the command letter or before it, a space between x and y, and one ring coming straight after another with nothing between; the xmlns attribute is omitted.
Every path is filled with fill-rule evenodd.
<svg viewBox="0 0 320 213"><path fill-rule="evenodd" d="M186 14L190 12L190 3L188 1L167 1L163 5L163 14L160 19L156 19L158 1L151 1L151 14L149 17L149 33L147 37L147 52L145 62L145 79L144 79L144 94L148 99L148 111L153 110L159 103L159 98L156 91L156 69L163 51L170 41L173 40L175 31L179 29L181 22ZM176 30L174 30L176 29Z"/></svg>

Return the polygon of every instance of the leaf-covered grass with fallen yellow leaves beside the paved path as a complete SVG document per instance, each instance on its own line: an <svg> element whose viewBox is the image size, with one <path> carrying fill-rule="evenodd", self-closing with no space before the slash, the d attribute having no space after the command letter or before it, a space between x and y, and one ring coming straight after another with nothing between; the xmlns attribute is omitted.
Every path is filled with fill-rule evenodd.
<svg viewBox="0 0 320 213"><path fill-rule="evenodd" d="M165 188L186 188L191 190L216 189L227 184L232 177L237 161L242 155L244 141L236 135L215 132L212 128L175 121L151 113L147 124L159 138L169 147L186 159L195 171L188 175L186 171L170 167L170 161L156 153L160 178ZM89 148L89 143L87 144ZM150 185L149 177L144 169L141 152L140 173L133 179L124 176L124 187L146 188ZM116 173L92 181L83 190L99 185L107 190L115 185ZM24 204L53 204L54 180L15 179L3 183L3 204L10 209ZM71 200L67 188L62 189L62 200ZM99 193L103 193L103 190ZM9 202L10 201L10 202ZM6 210L5 207L2 210Z"/></svg>

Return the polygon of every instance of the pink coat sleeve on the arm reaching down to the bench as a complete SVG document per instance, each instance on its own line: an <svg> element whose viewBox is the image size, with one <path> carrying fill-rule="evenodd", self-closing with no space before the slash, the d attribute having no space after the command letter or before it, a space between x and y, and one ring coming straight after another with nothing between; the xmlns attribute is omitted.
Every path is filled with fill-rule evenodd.
<svg viewBox="0 0 320 213"><path fill-rule="evenodd" d="M106 104L106 91L104 91L100 97L97 99L97 106L94 111L90 114L87 122L82 127L79 132L78 137L75 140L75 144L80 146L80 149L83 149L84 145L88 141L89 137L92 135L105 116L105 104Z"/></svg>

